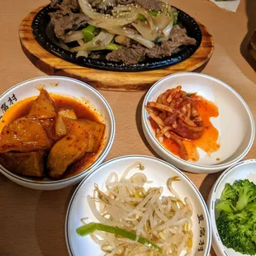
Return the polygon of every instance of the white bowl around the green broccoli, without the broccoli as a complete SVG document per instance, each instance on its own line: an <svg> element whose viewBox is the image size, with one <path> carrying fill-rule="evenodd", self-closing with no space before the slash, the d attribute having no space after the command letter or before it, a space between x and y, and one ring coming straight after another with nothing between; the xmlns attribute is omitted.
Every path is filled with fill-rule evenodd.
<svg viewBox="0 0 256 256"><path fill-rule="evenodd" d="M249 179L250 182L256 184L256 159L250 159L225 170L220 175L214 186L211 188L207 200L207 206L211 217L212 226L212 246L218 256L244 256L245 254L239 254L234 249L228 249L222 244L220 235L216 227L216 201L220 199L221 192L225 187L225 183L234 183L236 180Z"/></svg>

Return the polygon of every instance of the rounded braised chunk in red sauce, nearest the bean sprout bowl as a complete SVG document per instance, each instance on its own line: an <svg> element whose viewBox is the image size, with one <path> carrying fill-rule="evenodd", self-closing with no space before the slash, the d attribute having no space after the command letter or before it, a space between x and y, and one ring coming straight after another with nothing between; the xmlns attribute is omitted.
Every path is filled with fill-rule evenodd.
<svg viewBox="0 0 256 256"><path fill-rule="evenodd" d="M47 168L50 177L59 178L69 165L80 159L86 152L86 143L79 140L77 135L66 135L50 149Z"/></svg>

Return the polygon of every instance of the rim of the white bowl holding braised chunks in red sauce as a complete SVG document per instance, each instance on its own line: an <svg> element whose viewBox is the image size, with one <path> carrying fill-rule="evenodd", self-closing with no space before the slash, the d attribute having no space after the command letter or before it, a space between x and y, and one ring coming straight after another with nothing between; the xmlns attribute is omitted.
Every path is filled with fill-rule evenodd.
<svg viewBox="0 0 256 256"><path fill-rule="evenodd" d="M30 83L33 81L41 81L41 80L50 80L50 79L58 79L58 80L71 80L75 83L79 83L82 87L84 88L88 88L90 91L94 92L95 94L97 94L97 97L99 97L102 102L105 104L105 106L107 107L107 111L109 112L110 115L110 119L111 119L111 135L109 138L109 142L107 143L107 147L106 149L104 149L102 151L102 154L99 156L99 158L88 168L84 169L81 173L78 173L72 177L69 178L64 178L64 179L60 179L60 180L56 180L56 181L33 181L29 178L23 178L15 173L12 173L11 171L7 170L7 168L4 168L2 166L2 164L0 164L0 171L4 172L7 174L7 176L11 176L14 179L19 180L21 183L32 183L35 184L36 186L40 186L40 185L44 185L44 186L52 186L52 185L56 185L56 184L63 184L63 183L67 183L72 181L73 179L78 179L78 178L83 178L83 175L86 174L84 173L85 170L87 170L88 172L92 172L92 170L94 168L97 168L97 166L99 164L102 163L102 161L107 157L107 154L109 153L111 146L113 145L114 139L115 139L115 135L116 135L116 122L115 122L115 116L113 114L113 111L111 110L110 104L107 102L107 100L105 99L105 97L102 96L102 94L100 92L97 92L97 90L95 88L92 88L92 86L90 86L88 83L84 83L78 79L74 79L74 78L69 78L69 77L64 77L64 76L41 76L41 77L37 77L37 78L31 78L31 79L27 79L25 81L22 81L20 83L17 83L16 85L12 86L12 88L9 88L7 91L3 92L0 95L0 100L2 99L2 97L6 96L6 94L8 92L12 92L12 90L14 90L15 88L20 87L21 85L24 85L26 83Z"/></svg>

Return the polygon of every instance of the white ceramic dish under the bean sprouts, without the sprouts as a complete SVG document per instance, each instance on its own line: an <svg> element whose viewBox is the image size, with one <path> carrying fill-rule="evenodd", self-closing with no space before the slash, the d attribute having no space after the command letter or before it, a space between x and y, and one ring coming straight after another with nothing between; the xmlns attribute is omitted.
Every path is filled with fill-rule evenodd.
<svg viewBox="0 0 256 256"><path fill-rule="evenodd" d="M92 173L88 174L88 176L83 179L83 182L79 184L69 202L66 216L65 232L69 254L73 256L82 256L84 255L84 252L86 252L86 255L103 255L99 246L94 243L90 236L79 237L76 233L78 226L82 225L80 221L81 218L88 217L88 222L97 222L97 219L90 211L86 197L87 195L92 195L94 183L97 183L101 189L104 189L107 177L111 172L116 172L120 176L124 173L125 169L131 164L134 164L135 161L140 161L140 163L145 166L145 175L149 180L154 182L151 185L149 184L149 187L164 187L164 195L170 195L170 192L168 192L168 189L166 188L168 178L178 176L181 179L181 182L173 183L173 187L182 199L184 197L189 197L192 201L194 209L192 216L192 232L194 234L192 255L209 255L211 249L211 223L206 209L206 203L201 197L200 192L198 192L197 187L195 187L187 176L173 165L168 164L163 160L140 155L130 155L111 159L102 164ZM132 170L130 175L136 172L138 172L137 169ZM204 230L205 234L203 234L202 231L200 232L200 230Z"/></svg>

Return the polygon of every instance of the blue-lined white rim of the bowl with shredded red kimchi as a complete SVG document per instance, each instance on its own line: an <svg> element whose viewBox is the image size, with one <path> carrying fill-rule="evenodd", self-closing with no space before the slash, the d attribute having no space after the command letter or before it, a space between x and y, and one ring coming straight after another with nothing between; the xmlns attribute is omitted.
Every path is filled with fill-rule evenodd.
<svg viewBox="0 0 256 256"><path fill-rule="evenodd" d="M149 96L151 94L151 92L154 90L154 88L158 88L161 83L168 79L168 78L173 78L173 77L180 77L180 76L195 76L195 77L202 77L202 78L207 78L210 79L212 81L215 81L217 83L220 84L220 86L224 86L225 88L227 88L231 93L233 93L235 95L235 97L237 97L239 99L239 101L243 104L245 111L247 112L248 116L249 116L249 122L250 122L250 127L251 127L251 135L250 135L250 140L249 140L249 144L246 146L246 148L244 149L244 152L242 154L240 154L237 158L230 160L229 162L225 163L225 164L194 164L191 162L187 162L186 160L183 160L181 158L179 158L178 156L176 156L175 154L171 153L170 151L168 151L168 149L165 149L163 145L161 145L159 143L159 141L155 138L154 135L152 135L152 131L149 128L148 122L147 122L147 118L146 118L146 111L145 111L145 105L148 102ZM178 162L178 164L183 164L184 166L186 166L187 168L197 168L198 170L201 171L205 171L207 169L210 170L219 170L219 169L223 169L223 168L228 168L230 167L230 165L237 163L239 160L243 159L244 156L246 154L248 154L249 149L251 149L253 143L254 143L254 136L255 136L255 125L254 125L254 116L252 115L252 112L249 109L249 106L247 105L247 103L244 101L243 97L241 97L239 95L238 92L235 91L235 89L231 88L227 83L222 82L220 79L218 78L214 78L211 77L210 75L204 74L204 73L192 73L192 72L179 72L179 73L174 73L174 74L170 74L168 76L165 76L164 78L161 78L158 82L154 83L154 85L149 88L149 91L146 93L144 101L142 103L142 122L145 125L145 131L148 133L149 138L152 140L152 143L154 143L154 145L163 153L165 154L168 158L171 158L175 161Z"/></svg>

